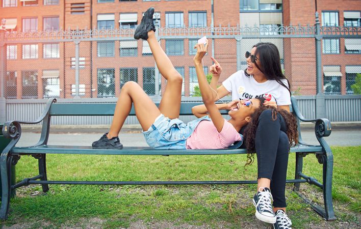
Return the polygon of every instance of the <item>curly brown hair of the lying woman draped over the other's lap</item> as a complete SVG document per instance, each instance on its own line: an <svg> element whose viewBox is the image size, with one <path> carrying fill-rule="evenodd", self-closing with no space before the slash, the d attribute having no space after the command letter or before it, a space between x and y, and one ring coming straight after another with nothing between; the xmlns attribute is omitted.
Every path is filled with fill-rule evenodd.
<svg viewBox="0 0 361 229"><path fill-rule="evenodd" d="M254 153L255 153L255 134L259 122L259 118L261 113L264 110L270 109L272 110L272 120L277 119L277 115L281 115L283 117L283 120L286 122L287 126L287 137L289 140L289 147L292 146L293 142L295 144L298 143L298 130L297 130L297 121L293 114L291 112L288 112L287 110L269 107L263 105L264 98L259 99L261 102L261 105L259 108L257 108L253 114L251 115L251 121L248 123L246 129L245 129L245 135L246 135L246 147L247 147L247 163L246 165L251 165L254 161Z"/></svg>

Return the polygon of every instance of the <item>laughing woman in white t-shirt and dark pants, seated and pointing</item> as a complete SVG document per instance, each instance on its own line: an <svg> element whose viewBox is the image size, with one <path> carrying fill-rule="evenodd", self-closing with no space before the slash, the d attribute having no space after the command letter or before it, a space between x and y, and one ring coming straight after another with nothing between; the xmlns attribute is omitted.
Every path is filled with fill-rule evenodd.
<svg viewBox="0 0 361 229"><path fill-rule="evenodd" d="M216 86L222 67L214 58L211 58L214 62L210 66L210 72L213 74L211 87L217 90L217 94L214 92L215 98L218 100L229 93L233 100L264 97L266 99L264 105L290 111L290 83L282 74L277 47L272 43L258 43L250 52L247 51L245 56L247 69L229 76L218 89ZM253 204L256 207L255 216L262 221L274 223L275 228L279 228L279 226L289 228L292 224L285 213L289 152L286 133L287 125L279 112L276 119L272 118L270 109L262 112L258 119L254 139L254 148L257 153L258 186L257 193L253 197ZM247 130L242 134L247 137ZM273 208L271 206L272 196Z"/></svg>

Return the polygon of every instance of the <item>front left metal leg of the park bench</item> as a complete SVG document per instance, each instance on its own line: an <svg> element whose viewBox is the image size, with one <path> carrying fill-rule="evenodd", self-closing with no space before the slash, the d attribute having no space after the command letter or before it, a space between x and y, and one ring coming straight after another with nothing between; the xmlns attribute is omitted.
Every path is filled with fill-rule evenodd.
<svg viewBox="0 0 361 229"><path fill-rule="evenodd" d="M0 219L8 218L11 193L11 162L12 157L8 154L2 154L0 157L1 182L2 182L2 202L0 208Z"/></svg>

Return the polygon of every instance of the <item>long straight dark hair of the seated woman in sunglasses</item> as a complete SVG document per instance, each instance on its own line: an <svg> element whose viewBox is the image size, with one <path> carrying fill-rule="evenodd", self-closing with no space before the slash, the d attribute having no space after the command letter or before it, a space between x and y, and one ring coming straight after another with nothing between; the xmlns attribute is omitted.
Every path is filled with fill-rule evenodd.
<svg viewBox="0 0 361 229"><path fill-rule="evenodd" d="M261 66L257 65L257 63L254 63L254 65L260 69L260 71L266 76L268 80L276 80L279 84L282 85L282 87L287 88L291 95L291 84L286 76L282 73L281 60L277 46L270 42L261 42L255 44L253 48L254 47L256 47L254 56L259 54L260 61L262 63ZM249 76L247 70L244 72L246 76ZM281 81L281 79L287 80L288 87Z"/></svg>

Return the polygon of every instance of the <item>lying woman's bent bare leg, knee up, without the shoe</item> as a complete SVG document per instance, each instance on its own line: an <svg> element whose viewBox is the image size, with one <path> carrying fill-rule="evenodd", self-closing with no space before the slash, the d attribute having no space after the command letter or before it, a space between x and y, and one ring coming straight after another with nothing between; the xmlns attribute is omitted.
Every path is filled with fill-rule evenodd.
<svg viewBox="0 0 361 229"><path fill-rule="evenodd" d="M133 81L124 84L120 91L117 105L115 106L112 125L108 133L108 138L116 137L122 128L126 117L128 117L132 103L136 116L143 130L146 131L154 123L154 120L161 115L156 104L147 96L140 85Z"/></svg>

